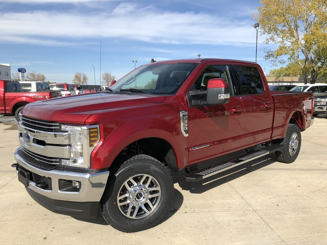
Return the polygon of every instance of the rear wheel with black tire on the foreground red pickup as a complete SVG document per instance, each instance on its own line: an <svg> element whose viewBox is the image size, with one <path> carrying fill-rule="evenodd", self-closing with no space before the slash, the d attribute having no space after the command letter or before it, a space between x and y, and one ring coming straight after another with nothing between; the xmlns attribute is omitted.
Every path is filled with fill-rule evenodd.
<svg viewBox="0 0 327 245"><path fill-rule="evenodd" d="M287 126L286 136L281 144L282 150L275 153L277 160L285 163L294 162L301 148L301 132L296 125Z"/></svg>

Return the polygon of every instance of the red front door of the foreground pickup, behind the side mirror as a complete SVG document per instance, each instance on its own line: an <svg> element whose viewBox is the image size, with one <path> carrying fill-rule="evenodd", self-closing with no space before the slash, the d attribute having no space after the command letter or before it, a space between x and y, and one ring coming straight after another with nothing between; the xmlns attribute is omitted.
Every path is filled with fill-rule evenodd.
<svg viewBox="0 0 327 245"><path fill-rule="evenodd" d="M196 163L236 151L242 140L242 100L236 96L228 65L208 64L200 71L188 91L189 162ZM210 78L223 78L230 86L229 103L193 106L193 100L206 100L206 95L191 96L192 90L206 90Z"/></svg>

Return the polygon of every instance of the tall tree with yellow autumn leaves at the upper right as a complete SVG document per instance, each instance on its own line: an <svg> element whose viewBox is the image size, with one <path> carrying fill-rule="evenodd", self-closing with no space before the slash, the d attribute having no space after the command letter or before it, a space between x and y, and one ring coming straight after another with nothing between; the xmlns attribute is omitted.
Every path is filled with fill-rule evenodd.
<svg viewBox="0 0 327 245"><path fill-rule="evenodd" d="M260 0L254 19L266 35L265 43L278 45L265 50L266 60L274 65L297 62L305 83L315 83L326 69L327 1L326 0Z"/></svg>

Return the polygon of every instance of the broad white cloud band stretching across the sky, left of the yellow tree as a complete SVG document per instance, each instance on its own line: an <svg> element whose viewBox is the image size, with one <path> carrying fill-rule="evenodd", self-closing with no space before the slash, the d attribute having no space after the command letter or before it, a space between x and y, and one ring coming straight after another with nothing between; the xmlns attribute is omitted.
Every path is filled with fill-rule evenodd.
<svg viewBox="0 0 327 245"><path fill-rule="evenodd" d="M15 0L19 1L19 0ZM29 2L38 0L30 0ZM50 0L48 0L50 1ZM64 2L56 0L53 2ZM68 0L65 2L88 2ZM252 22L207 13L160 12L123 3L111 13L31 11L2 13L0 42L81 45L85 38L124 38L153 43L253 45ZM70 38L71 40L67 40ZM73 41L72 41L73 40Z"/></svg>

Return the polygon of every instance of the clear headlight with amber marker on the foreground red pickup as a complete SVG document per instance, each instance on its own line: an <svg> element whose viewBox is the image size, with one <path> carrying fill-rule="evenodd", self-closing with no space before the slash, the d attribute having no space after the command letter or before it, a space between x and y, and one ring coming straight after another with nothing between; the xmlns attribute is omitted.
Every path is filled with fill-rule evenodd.
<svg viewBox="0 0 327 245"><path fill-rule="evenodd" d="M71 158L62 160L63 165L90 167L90 156L99 142L99 126L61 125L61 130L69 133Z"/></svg>

